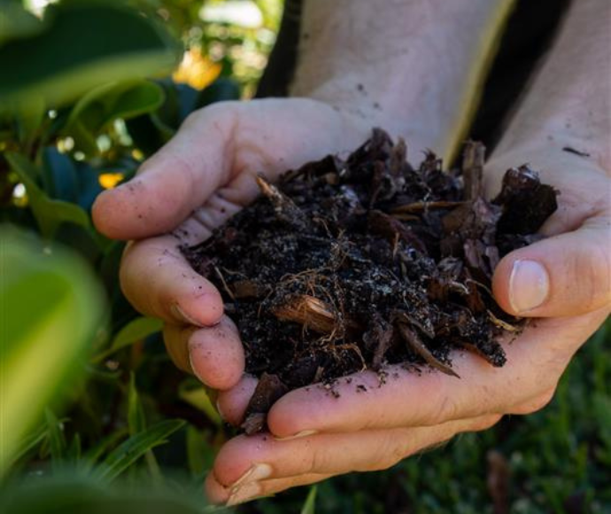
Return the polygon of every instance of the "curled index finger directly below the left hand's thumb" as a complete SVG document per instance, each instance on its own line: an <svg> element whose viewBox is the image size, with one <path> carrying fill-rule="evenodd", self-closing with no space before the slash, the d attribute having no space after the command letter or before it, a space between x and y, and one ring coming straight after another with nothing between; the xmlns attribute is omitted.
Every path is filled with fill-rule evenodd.
<svg viewBox="0 0 611 514"><path fill-rule="evenodd" d="M128 245L120 284L137 310L168 323L210 326L223 314L220 293L191 268L172 236Z"/></svg>

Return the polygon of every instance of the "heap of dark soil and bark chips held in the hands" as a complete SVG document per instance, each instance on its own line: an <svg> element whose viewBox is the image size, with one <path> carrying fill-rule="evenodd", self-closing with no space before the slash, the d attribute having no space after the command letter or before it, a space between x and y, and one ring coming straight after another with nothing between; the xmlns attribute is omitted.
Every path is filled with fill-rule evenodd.
<svg viewBox="0 0 611 514"><path fill-rule="evenodd" d="M222 293L259 377L246 432L265 427L282 394L355 371L405 363L457 376L456 348L506 362L496 339L522 322L492 298L492 272L540 238L556 191L524 165L483 199L483 152L469 142L459 170L430 152L414 168L406 144L375 129L346 160L308 163L276 186L259 176L259 199L183 248Z"/></svg>

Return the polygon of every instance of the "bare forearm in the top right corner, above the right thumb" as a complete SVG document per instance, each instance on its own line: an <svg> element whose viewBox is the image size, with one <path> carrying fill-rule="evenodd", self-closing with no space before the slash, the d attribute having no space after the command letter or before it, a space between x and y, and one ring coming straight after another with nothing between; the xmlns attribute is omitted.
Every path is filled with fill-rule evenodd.
<svg viewBox="0 0 611 514"><path fill-rule="evenodd" d="M496 155L542 148L583 153L611 172L611 5L576 0ZM582 162L585 164L584 160Z"/></svg>

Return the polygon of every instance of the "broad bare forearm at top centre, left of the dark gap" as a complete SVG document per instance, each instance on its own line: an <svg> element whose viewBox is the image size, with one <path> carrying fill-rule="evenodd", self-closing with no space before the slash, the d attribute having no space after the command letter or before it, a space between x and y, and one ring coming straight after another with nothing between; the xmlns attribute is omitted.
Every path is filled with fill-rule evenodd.
<svg viewBox="0 0 611 514"><path fill-rule="evenodd" d="M513 0L306 0L290 93L448 157Z"/></svg>

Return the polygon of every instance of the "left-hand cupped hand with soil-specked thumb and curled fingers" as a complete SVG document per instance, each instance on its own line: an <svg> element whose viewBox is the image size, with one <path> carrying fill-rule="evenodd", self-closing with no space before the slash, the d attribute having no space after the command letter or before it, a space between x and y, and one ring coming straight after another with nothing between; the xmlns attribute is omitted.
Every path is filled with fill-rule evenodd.
<svg viewBox="0 0 611 514"><path fill-rule="evenodd" d="M352 150L369 132L364 120L310 99L222 102L191 114L133 180L97 198L97 229L136 240L123 256L121 288L137 310L165 321L179 368L219 390L244 373L242 343L220 293L178 246L205 240L249 204L259 193L257 173L274 181L308 160Z"/></svg>

